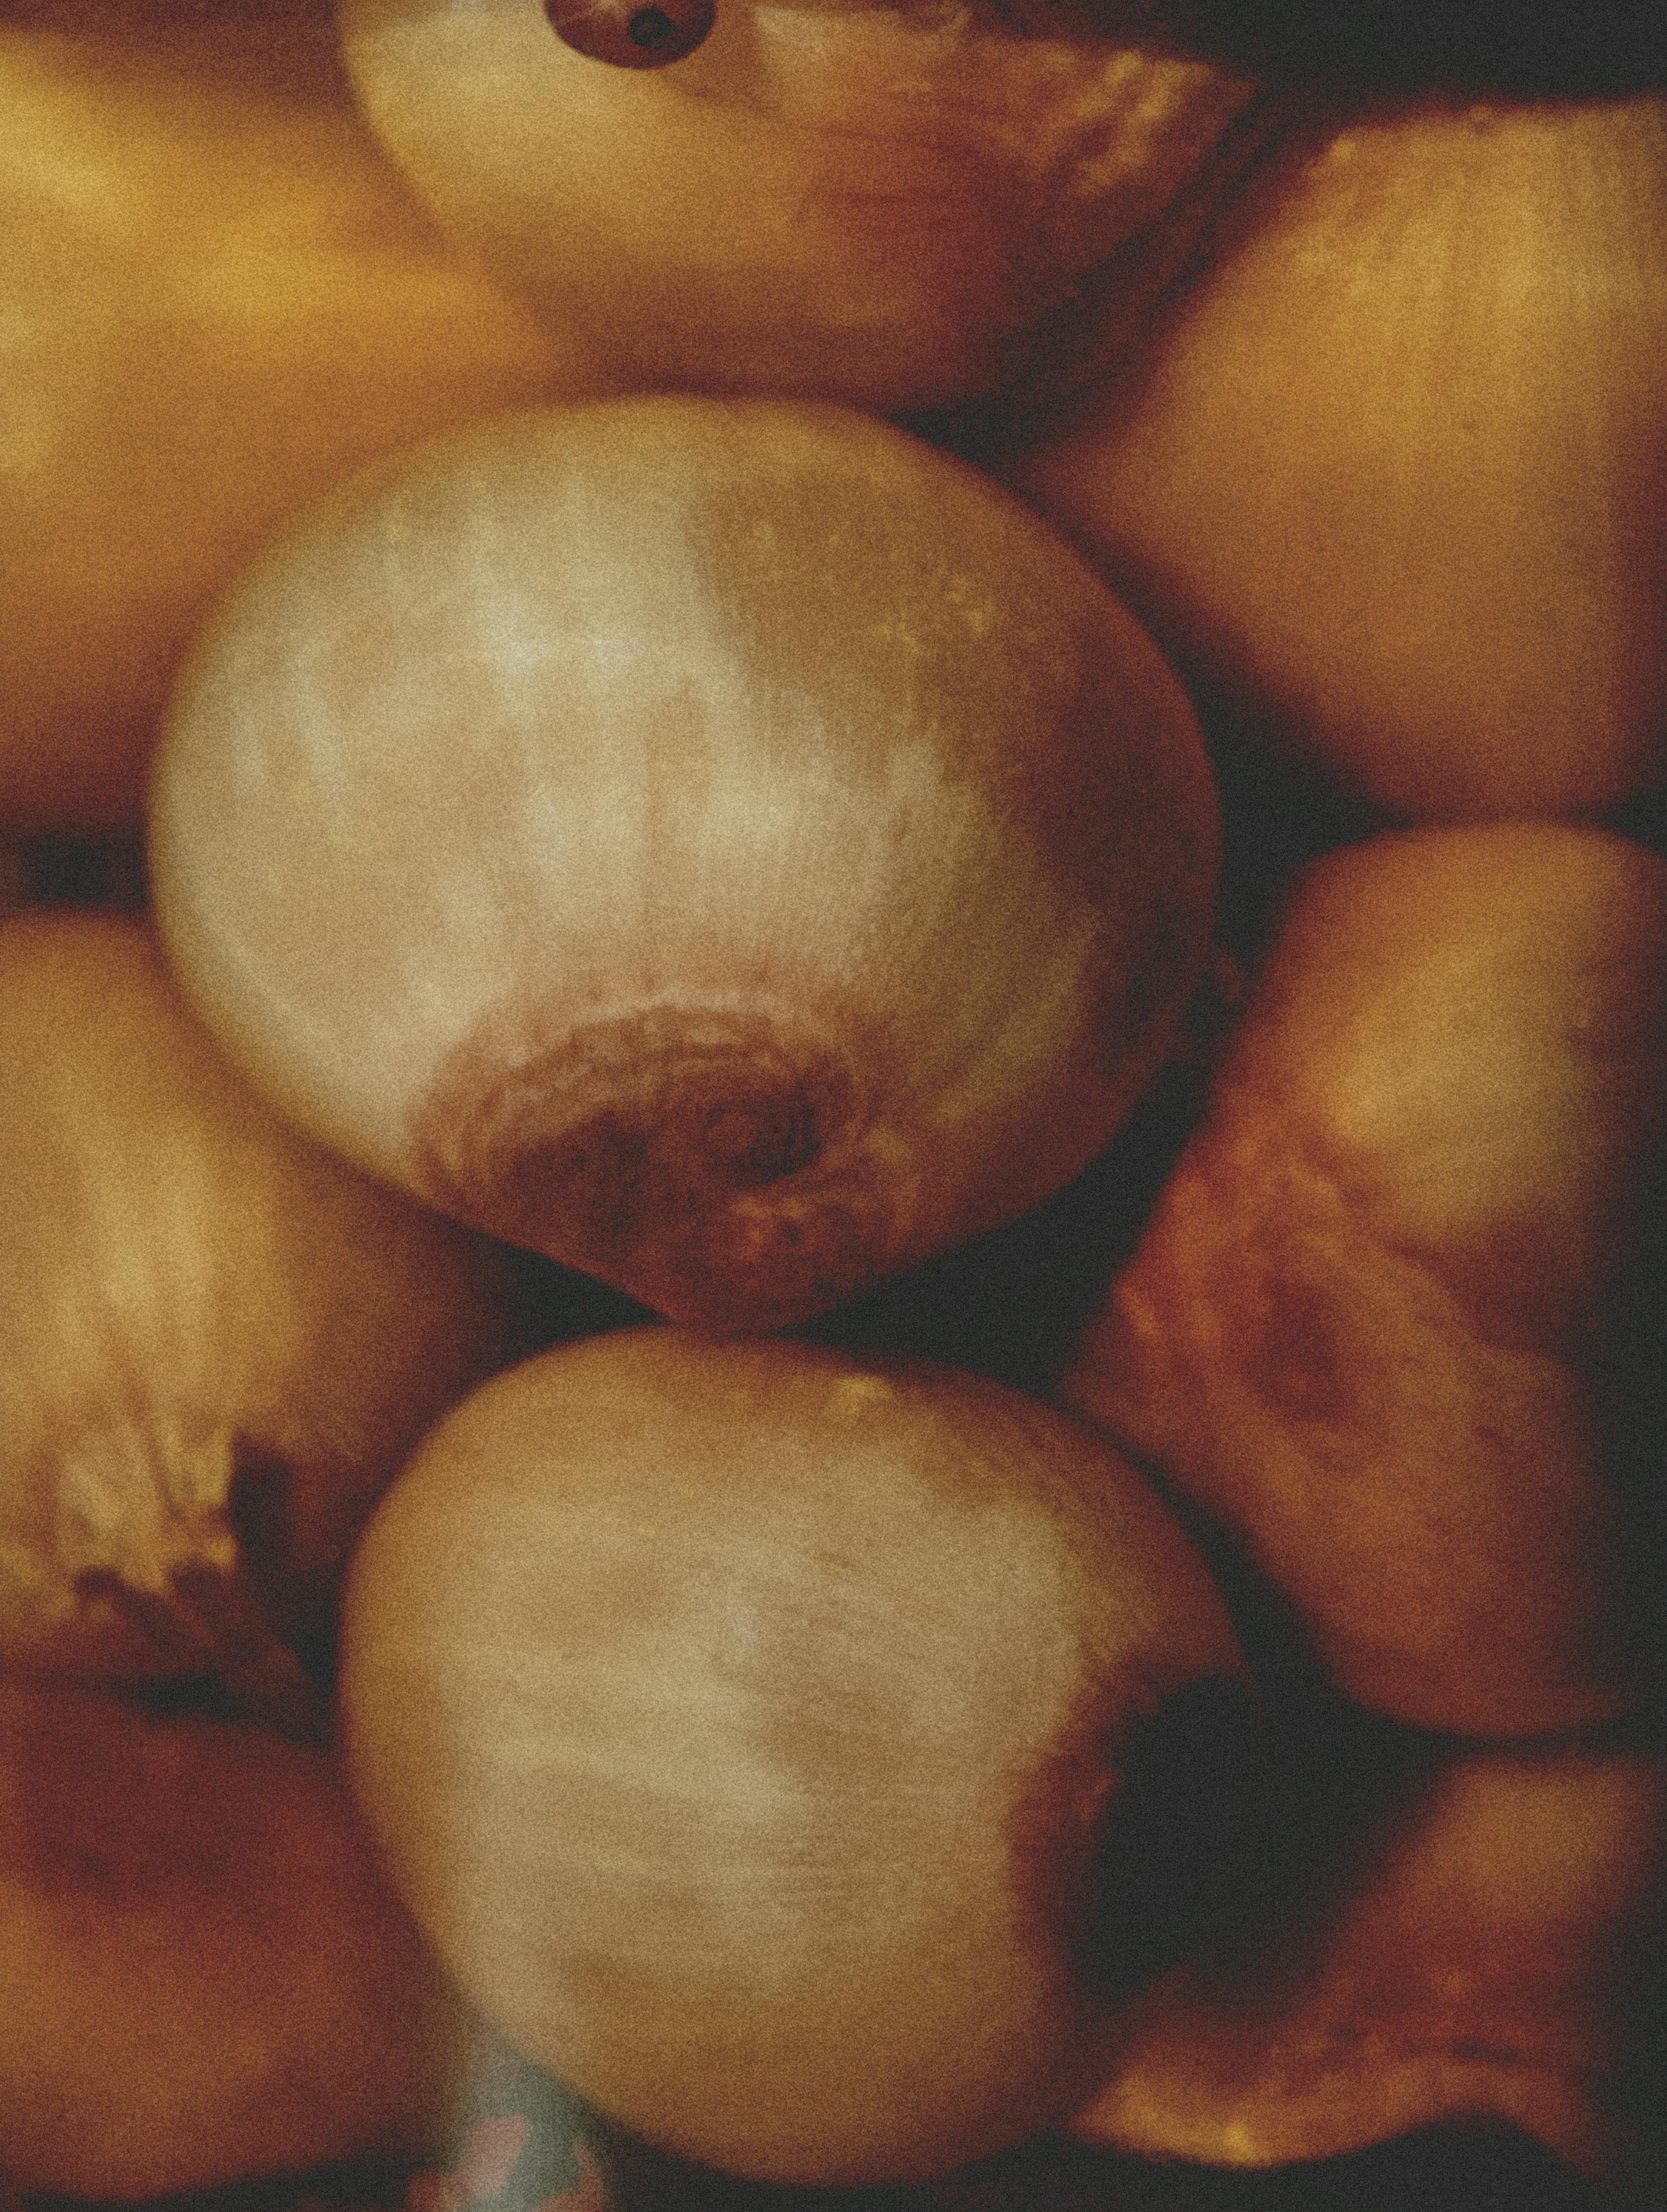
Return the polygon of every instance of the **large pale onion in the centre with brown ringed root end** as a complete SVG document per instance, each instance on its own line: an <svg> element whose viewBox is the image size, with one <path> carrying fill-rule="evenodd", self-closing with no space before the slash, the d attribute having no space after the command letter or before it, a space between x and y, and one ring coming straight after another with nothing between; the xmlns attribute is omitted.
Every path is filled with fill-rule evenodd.
<svg viewBox="0 0 1667 2212"><path fill-rule="evenodd" d="M1107 1141L1215 838L1180 686L1025 509L839 409L644 398L438 440L275 546L151 858L288 1113L735 1332Z"/></svg>

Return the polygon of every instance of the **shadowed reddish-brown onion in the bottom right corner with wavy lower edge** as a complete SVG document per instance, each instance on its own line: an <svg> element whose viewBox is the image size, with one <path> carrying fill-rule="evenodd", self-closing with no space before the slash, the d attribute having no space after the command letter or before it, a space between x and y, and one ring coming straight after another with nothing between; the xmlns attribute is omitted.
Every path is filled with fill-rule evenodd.
<svg viewBox="0 0 1667 2212"><path fill-rule="evenodd" d="M1594 2179L1625 2170L1665 1816L1660 1756L1561 1745L1443 1763L1308 1913L1136 1997L1074 2132L1255 2168L1503 2119Z"/></svg>

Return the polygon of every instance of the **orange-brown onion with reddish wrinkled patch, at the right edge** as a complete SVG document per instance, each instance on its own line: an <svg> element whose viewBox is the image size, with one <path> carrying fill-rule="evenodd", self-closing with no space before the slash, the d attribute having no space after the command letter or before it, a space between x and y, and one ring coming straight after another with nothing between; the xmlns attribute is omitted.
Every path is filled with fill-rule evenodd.
<svg viewBox="0 0 1667 2212"><path fill-rule="evenodd" d="M1654 854L1421 830L1300 883L1063 1389L1368 1708L1516 1736L1638 1694L1592 1358L1665 1102Z"/></svg>

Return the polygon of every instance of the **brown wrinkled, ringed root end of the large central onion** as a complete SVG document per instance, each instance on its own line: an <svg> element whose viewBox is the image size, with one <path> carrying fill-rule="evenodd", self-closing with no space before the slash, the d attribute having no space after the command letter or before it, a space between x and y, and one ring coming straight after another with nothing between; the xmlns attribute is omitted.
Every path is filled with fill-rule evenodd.
<svg viewBox="0 0 1667 2212"><path fill-rule="evenodd" d="M912 1170L874 1057L788 1018L646 1006L456 1046L412 1150L436 1206L706 1327L786 1327L886 1274ZM857 1066L863 1066L859 1060Z"/></svg>

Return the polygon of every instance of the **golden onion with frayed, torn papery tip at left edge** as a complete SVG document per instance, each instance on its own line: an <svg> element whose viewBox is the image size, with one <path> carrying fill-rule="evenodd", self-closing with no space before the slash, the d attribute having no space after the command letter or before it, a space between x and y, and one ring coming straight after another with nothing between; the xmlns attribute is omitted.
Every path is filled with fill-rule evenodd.
<svg viewBox="0 0 1667 2212"><path fill-rule="evenodd" d="M292 1644L511 1356L503 1256L283 1128L142 922L0 925L0 1666L308 1734Z"/></svg>

